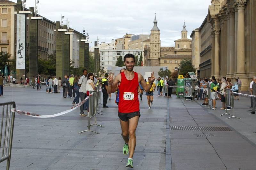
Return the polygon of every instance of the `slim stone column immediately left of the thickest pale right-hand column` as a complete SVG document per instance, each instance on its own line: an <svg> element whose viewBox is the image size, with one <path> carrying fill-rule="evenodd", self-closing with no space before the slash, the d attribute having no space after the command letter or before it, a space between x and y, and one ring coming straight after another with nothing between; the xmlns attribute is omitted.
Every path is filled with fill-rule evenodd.
<svg viewBox="0 0 256 170"><path fill-rule="evenodd" d="M235 13L233 9L229 17L229 74L232 76L235 72Z"/></svg>

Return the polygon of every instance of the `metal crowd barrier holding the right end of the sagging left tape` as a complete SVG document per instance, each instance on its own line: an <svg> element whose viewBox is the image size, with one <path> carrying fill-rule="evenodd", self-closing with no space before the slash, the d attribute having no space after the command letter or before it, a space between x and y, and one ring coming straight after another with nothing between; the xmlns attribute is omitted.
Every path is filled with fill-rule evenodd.
<svg viewBox="0 0 256 170"><path fill-rule="evenodd" d="M93 94L92 94L93 93ZM98 125L100 127L104 127L100 124L97 124L97 111L98 111L98 96L97 96L97 90L92 90L90 91L90 95L92 94L92 96L90 96L89 98L89 112L88 112L88 130L85 130L85 131L92 131L91 130L91 126L92 125ZM94 123L93 124L90 124L91 121L90 119L94 117ZM81 131L79 133L83 133L85 131ZM92 131L94 133L99 133L99 132L96 132L96 131Z"/></svg>

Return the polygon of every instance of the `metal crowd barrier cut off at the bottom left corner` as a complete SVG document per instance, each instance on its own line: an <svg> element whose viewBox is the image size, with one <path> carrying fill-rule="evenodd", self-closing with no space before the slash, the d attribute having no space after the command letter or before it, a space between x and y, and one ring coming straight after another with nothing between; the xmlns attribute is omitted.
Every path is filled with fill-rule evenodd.
<svg viewBox="0 0 256 170"><path fill-rule="evenodd" d="M15 102L0 103L0 113L2 113L0 131L0 162L7 160L7 170L10 169L11 162L15 107Z"/></svg>

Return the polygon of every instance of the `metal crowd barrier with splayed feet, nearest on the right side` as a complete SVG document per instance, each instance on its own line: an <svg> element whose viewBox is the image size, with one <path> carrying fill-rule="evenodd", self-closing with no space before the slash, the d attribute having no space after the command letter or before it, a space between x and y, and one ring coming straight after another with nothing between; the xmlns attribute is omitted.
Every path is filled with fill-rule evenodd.
<svg viewBox="0 0 256 170"><path fill-rule="evenodd" d="M227 110L227 108L230 107L230 109L232 109L232 111L233 111L233 114L231 115L231 117L228 117L226 119L229 119L229 118L232 118L232 117L240 119L239 117L235 116L234 93L233 93L232 89L225 89L225 92L226 92L226 96L225 96L226 110L225 110L225 113L223 113L222 115L231 115L231 114L228 113L228 110ZM220 115L220 116L222 116L222 115Z"/></svg>

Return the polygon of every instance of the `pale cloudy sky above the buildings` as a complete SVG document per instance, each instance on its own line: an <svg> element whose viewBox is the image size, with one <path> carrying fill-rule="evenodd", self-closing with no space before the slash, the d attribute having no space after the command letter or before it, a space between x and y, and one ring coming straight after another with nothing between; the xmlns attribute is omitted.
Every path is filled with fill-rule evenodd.
<svg viewBox="0 0 256 170"><path fill-rule="evenodd" d="M17 0L11 0L17 2ZM52 21L69 20L69 27L82 32L87 30L89 40L111 42L124 34L150 34L156 13L161 30L161 46L174 46L181 38L186 24L188 38L193 29L200 27L208 12L211 0L39 0L38 14ZM27 0L26 8L35 6ZM93 46L94 44L90 44Z"/></svg>

